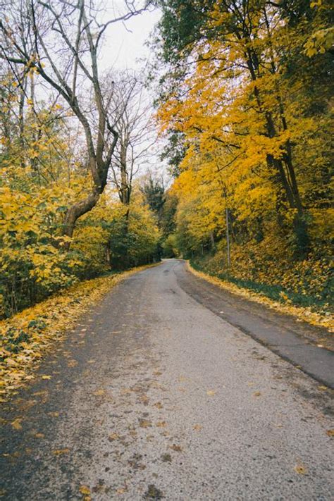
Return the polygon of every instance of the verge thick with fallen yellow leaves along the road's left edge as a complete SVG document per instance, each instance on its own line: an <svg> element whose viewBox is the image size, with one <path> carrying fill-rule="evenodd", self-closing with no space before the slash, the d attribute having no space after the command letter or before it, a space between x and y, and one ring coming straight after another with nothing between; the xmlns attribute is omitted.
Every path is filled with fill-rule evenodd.
<svg viewBox="0 0 334 501"><path fill-rule="evenodd" d="M120 281L153 265L84 280L48 299L0 321L0 402L27 381L55 343L73 329L78 318Z"/></svg>

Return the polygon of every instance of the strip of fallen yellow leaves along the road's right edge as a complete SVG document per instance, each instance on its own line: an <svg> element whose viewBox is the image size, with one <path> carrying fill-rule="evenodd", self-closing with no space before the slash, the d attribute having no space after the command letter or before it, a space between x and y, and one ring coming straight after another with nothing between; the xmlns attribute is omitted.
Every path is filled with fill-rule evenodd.
<svg viewBox="0 0 334 501"><path fill-rule="evenodd" d="M266 307L280 311L280 313L295 316L297 321L304 321L312 326L324 327L330 333L334 332L333 314L330 314L329 311L315 311L316 304L312 304L310 298L302 302L299 297L293 298L291 295L288 297L281 287L275 285L256 284L250 280L230 277L227 274L202 271L201 267L192 260L188 261L188 269L195 276L233 292L233 294L264 304Z"/></svg>

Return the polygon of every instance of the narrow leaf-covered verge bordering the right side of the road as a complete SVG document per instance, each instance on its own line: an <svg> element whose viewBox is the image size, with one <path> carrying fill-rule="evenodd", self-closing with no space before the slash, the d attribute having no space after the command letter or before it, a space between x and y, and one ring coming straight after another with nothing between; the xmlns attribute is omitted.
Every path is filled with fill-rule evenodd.
<svg viewBox="0 0 334 501"><path fill-rule="evenodd" d="M283 304L282 302L271 299L270 297L266 297L265 292L254 292L253 290L231 283L228 280L222 280L216 276L208 275L203 271L199 271L199 269L195 269L189 261L187 262L187 267L195 276L203 278L207 282L213 283L214 285L218 285L221 289L225 289L233 294L245 297L250 301L264 304L266 307L275 309L280 313L295 316L297 321L304 321L312 326L327 328L330 333L334 332L334 318L329 312L322 314L312 311L311 307L297 307L291 304L288 299L287 302Z"/></svg>

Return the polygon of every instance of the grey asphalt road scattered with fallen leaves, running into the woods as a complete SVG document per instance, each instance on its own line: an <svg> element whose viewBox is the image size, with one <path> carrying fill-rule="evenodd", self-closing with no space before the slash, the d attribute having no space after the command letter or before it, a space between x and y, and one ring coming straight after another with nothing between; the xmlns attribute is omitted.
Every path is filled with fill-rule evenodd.
<svg viewBox="0 0 334 501"><path fill-rule="evenodd" d="M5 406L3 499L333 500L331 390L264 345L279 329L301 342L182 261L131 276Z"/></svg>

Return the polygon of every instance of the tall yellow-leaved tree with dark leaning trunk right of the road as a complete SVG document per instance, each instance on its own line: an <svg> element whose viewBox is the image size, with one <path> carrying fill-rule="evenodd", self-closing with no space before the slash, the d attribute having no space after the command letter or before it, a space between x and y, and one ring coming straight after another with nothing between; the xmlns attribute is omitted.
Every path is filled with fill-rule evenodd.
<svg viewBox="0 0 334 501"><path fill-rule="evenodd" d="M278 220L292 222L303 254L308 216L295 151L316 120L298 113L293 94L301 82L292 86L285 76L285 49L303 47L300 30L264 0L173 0L162 8L161 48L171 71L161 120L190 144L205 143L208 154L222 147L223 169L266 171Z"/></svg>

